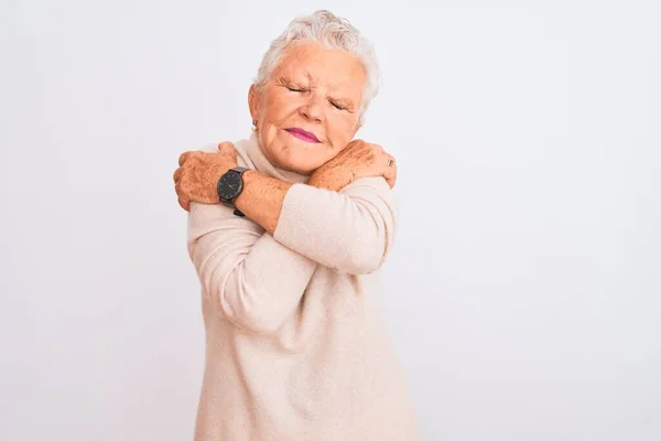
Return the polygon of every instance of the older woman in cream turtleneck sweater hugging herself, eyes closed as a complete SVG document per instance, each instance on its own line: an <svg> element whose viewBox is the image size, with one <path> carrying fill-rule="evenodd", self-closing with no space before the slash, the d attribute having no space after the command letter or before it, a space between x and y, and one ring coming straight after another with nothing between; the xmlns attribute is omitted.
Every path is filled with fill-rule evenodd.
<svg viewBox="0 0 661 441"><path fill-rule="evenodd" d="M346 20L294 20L249 89L250 138L181 155L207 335L196 440L416 439L375 304L397 166L353 140L377 80Z"/></svg>

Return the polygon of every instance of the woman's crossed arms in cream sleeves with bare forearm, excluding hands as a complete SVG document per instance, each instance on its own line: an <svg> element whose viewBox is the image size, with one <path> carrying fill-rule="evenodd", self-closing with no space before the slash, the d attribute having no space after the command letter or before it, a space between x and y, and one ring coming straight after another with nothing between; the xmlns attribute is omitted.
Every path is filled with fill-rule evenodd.
<svg viewBox="0 0 661 441"><path fill-rule="evenodd" d="M188 251L203 293L219 314L257 333L277 331L318 265L350 275L378 269L397 212L383 178L340 191L246 172L237 217L221 204L191 204ZM261 182L261 184L260 184Z"/></svg>

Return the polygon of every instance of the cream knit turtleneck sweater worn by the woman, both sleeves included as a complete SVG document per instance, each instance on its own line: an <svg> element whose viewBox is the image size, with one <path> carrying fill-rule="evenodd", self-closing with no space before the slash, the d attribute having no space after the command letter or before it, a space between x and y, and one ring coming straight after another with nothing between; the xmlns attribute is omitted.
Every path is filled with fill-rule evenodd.
<svg viewBox="0 0 661 441"><path fill-rule="evenodd" d="M191 205L206 331L195 440L416 440L378 304L391 189L382 178L316 189L271 165L254 135L235 146L239 165L293 185L273 235L223 204Z"/></svg>

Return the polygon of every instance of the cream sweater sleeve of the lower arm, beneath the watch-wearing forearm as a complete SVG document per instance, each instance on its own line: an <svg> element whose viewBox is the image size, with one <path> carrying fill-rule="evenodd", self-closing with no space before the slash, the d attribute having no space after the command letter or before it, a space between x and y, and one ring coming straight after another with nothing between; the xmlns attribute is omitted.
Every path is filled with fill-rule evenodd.
<svg viewBox="0 0 661 441"><path fill-rule="evenodd" d="M188 254L205 299L237 326L260 334L284 323L316 268L221 204L191 204Z"/></svg>

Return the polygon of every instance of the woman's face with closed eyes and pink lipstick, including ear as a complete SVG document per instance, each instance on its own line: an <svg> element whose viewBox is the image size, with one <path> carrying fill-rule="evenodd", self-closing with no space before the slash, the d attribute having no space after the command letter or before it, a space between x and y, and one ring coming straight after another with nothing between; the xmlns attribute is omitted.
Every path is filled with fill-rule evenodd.
<svg viewBox="0 0 661 441"><path fill-rule="evenodd" d="M359 128L366 75L354 55L317 43L290 47L249 106L267 159L308 175L333 159Z"/></svg>

